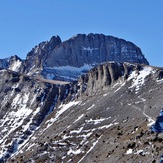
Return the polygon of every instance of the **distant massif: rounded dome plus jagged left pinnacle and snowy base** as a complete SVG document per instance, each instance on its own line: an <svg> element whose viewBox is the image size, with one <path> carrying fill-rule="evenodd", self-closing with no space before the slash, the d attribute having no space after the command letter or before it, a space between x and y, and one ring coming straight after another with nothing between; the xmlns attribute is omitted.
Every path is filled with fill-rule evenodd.
<svg viewBox="0 0 163 163"><path fill-rule="evenodd" d="M72 81L106 61L148 64L140 48L131 42L103 34L78 34L64 42L59 36L52 37L33 48L22 72Z"/></svg>

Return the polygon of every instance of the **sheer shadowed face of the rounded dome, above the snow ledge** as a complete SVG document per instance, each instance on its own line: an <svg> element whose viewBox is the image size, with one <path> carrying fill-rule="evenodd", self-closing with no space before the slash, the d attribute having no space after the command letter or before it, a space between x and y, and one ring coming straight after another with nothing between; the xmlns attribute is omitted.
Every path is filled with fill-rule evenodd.
<svg viewBox="0 0 163 163"><path fill-rule="evenodd" d="M131 42L103 34L78 34L56 47L46 65L82 67L106 61L148 64L140 48Z"/></svg>

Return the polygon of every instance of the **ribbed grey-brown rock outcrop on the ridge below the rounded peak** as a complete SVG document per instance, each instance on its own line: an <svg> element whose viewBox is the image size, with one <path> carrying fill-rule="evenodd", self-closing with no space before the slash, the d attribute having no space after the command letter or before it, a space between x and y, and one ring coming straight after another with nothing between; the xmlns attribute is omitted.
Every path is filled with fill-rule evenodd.
<svg viewBox="0 0 163 163"><path fill-rule="evenodd" d="M143 66L140 64L105 62L79 78L79 83L82 85L80 92L88 96L94 95L113 85L118 79L125 82L131 72L139 72L141 69Z"/></svg>

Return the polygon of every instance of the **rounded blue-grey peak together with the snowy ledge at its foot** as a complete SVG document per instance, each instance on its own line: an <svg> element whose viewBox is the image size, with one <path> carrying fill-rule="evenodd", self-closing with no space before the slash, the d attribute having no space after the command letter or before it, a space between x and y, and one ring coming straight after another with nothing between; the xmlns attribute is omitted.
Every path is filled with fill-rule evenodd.
<svg viewBox="0 0 163 163"><path fill-rule="evenodd" d="M77 34L48 54L41 74L44 78L76 80L82 73L79 69L85 72L107 61L149 64L141 49L129 41L103 34ZM79 73L74 74L72 68Z"/></svg>

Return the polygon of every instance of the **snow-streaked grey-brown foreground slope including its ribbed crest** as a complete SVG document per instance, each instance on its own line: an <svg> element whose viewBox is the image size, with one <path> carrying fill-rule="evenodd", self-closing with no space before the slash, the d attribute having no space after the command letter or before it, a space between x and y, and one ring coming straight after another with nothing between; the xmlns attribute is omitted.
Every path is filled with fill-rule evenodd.
<svg viewBox="0 0 163 163"><path fill-rule="evenodd" d="M163 69L108 62L65 85L0 75L1 162L159 162Z"/></svg>

